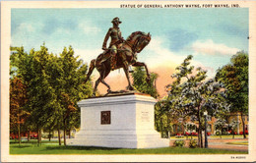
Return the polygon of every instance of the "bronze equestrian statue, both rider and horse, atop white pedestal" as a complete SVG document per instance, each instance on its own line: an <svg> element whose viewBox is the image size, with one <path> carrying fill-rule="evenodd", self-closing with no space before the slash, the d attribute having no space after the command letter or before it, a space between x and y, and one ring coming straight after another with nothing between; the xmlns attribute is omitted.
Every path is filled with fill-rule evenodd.
<svg viewBox="0 0 256 163"><path fill-rule="evenodd" d="M147 73L147 81L150 81L150 74L145 63L137 62L137 53L140 53L151 41L151 34L142 31L133 32L126 40L121 36L118 25L121 23L119 18L114 18L113 27L110 27L106 33L102 49L105 50L99 54L96 59L91 61L90 69L87 74L86 81L89 80L94 69L99 73L99 78L96 80L94 95L96 93L96 87L99 82L103 83L107 87L107 94L114 93L110 89L110 86L104 81L111 70L123 68L128 86L126 89L134 90L129 79L128 67L131 66L144 66ZM109 48L106 48L106 42L108 37L111 36L111 42Z"/></svg>

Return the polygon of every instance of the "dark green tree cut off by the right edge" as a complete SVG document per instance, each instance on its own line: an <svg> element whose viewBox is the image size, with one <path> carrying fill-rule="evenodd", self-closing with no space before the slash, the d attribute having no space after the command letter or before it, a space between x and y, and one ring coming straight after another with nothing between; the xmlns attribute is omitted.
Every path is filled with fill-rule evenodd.
<svg viewBox="0 0 256 163"><path fill-rule="evenodd" d="M230 63L218 70L216 80L224 83L227 90L226 100L231 104L231 112L239 112L245 135L244 115L248 115L248 54L237 52Z"/></svg>

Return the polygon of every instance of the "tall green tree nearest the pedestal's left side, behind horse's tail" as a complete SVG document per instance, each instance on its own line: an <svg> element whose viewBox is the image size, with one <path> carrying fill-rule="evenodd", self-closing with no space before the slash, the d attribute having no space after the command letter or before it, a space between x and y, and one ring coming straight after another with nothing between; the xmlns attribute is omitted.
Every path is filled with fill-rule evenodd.
<svg viewBox="0 0 256 163"><path fill-rule="evenodd" d="M57 93L60 97L61 117L64 131L64 144L66 145L66 133L80 122L79 107L76 103L88 98L93 93L93 86L91 82L84 83L87 73L87 65L82 60L78 60L79 56L75 57L73 48L66 47L60 54L59 66L60 87Z"/></svg>

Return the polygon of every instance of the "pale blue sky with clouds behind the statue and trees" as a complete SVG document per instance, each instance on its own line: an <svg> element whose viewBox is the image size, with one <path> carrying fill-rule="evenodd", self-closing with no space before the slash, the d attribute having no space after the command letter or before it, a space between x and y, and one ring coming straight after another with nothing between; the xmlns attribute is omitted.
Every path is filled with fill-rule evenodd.
<svg viewBox="0 0 256 163"><path fill-rule="evenodd" d="M151 32L151 43L139 60L152 70L174 69L192 54L193 64L215 71L239 50L248 51L248 9L12 9L12 46L27 51L45 42L50 52L72 45L85 62L102 51L111 20L119 17L122 35ZM163 69L164 70L164 69ZM169 71L171 75L171 71Z"/></svg>

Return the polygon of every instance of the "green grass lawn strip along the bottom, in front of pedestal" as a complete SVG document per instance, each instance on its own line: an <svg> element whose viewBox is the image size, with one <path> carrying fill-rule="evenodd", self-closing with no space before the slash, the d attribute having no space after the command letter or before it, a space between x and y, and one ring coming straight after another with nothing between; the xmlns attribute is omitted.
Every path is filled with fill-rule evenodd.
<svg viewBox="0 0 256 163"><path fill-rule="evenodd" d="M58 143L43 141L40 146L36 143L10 143L10 154L248 154L243 151L163 147L155 149L119 149L88 146L59 146Z"/></svg>

